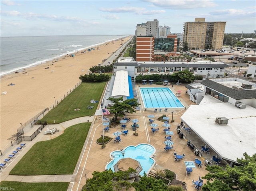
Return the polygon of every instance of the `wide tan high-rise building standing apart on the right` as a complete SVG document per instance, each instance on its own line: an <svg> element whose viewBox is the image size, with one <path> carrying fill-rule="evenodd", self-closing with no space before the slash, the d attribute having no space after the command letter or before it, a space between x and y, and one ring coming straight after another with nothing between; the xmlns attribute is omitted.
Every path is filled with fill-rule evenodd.
<svg viewBox="0 0 256 191"><path fill-rule="evenodd" d="M205 18L195 18L184 23L183 41L190 49L222 49L226 22L205 22Z"/></svg>

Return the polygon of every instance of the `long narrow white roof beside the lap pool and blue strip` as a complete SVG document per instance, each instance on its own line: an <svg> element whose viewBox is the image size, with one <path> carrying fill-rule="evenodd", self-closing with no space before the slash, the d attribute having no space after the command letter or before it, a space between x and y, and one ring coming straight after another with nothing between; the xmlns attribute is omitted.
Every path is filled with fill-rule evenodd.
<svg viewBox="0 0 256 191"><path fill-rule="evenodd" d="M129 96L128 71L116 71L115 81L111 96Z"/></svg>

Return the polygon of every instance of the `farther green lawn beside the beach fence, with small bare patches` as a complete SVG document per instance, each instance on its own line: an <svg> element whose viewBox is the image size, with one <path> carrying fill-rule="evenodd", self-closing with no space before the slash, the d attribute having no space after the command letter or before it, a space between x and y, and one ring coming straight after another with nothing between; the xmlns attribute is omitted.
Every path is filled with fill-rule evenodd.
<svg viewBox="0 0 256 191"><path fill-rule="evenodd" d="M55 108L50 110L42 120L48 124L61 123L74 118L94 115L99 102L90 103L94 99L100 101L106 82L100 83L81 83L72 93L64 98ZM87 109L87 106L94 106L93 109ZM74 109L80 110L75 111Z"/></svg>

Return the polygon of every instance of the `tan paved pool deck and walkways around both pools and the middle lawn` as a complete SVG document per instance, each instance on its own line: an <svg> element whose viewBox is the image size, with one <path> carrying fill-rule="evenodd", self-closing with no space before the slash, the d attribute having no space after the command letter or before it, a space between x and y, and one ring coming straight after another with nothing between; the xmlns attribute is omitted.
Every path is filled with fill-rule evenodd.
<svg viewBox="0 0 256 191"><path fill-rule="evenodd" d="M159 85L143 85L143 87L161 87ZM165 87L165 86L163 86ZM138 99L141 103L141 97L139 93L139 85L136 85L136 90L138 93ZM178 97L179 100L182 102L182 104L185 107L190 106L191 104L195 104L194 102L191 102L189 100L189 95L185 95L186 88L184 85L173 85L173 88L170 87L170 89L176 93L176 91L180 90L182 91L181 96ZM98 106L98 109L100 109L100 104ZM164 109L164 108L163 108ZM174 132L174 135L172 136L172 140L174 142L174 150L170 150L169 152L164 152L164 136L166 134L163 132L164 127L162 127L163 122L160 122L156 120L158 117L162 116L163 114L166 114L166 116L170 117L170 120L172 119L172 111L173 113L173 119L175 120L173 123L170 123L172 126L170 127L171 131ZM186 182L186 187L188 191L192 191L194 189L194 186L192 186L192 179L194 181L198 180L199 176L204 176L208 171L206 171L206 167L203 165L202 168L196 167L193 168L193 172L191 173L191 176L186 176L186 166L184 161L194 161L195 158L199 158L202 162L203 159L199 156L195 156L194 152L187 147L186 140L180 139L178 134L176 133L176 129L178 124L180 124L180 116L186 111L186 108L183 109L171 109L168 108L167 112L162 110L162 112L154 112L154 109L147 109L143 108L143 104L140 106L140 110L136 111L136 113L128 114L127 118L134 119L137 118L139 122L139 128L137 128L136 132L138 133L138 136L134 136L132 131L131 125L132 122L127 123L127 129L129 130L128 135L125 136L124 134L121 134L120 137L122 138L122 142L120 143L114 143L113 140L108 142L106 144L105 148L101 148L101 145L98 145L96 143L96 140L102 135L102 116L86 116L82 118L77 118L74 120L70 120L68 122L64 122L62 124L56 124L51 125L51 128L57 128L60 130L60 132L57 132L53 135L44 135L43 133L38 134L34 140L31 142L26 142L27 147L24 148L24 150L15 158L12 160L10 164L7 164L8 166L4 169L4 171L0 172L1 175L1 181L24 181L24 182L53 182L53 181L66 181L70 182L68 191L80 191L82 189L82 186L86 183L86 178L91 178L92 173L94 171L104 171L106 164L110 161L110 153L114 150L121 150L125 148L126 146L130 145L138 145L141 143L148 143L156 149L156 153L154 154L154 159L156 161L155 166L153 167L154 170L158 169L170 169L171 171L174 171L177 175L177 179L180 181ZM159 132L156 132L155 134L152 134L151 132L151 126L148 121L148 114L154 114L154 123L158 124ZM38 141L43 140L49 140L52 138L55 138L56 136L59 136L62 134L62 132L68 128L71 125L81 123L81 122L87 122L89 120L92 122L90 131L88 133L88 136L86 138L84 147L82 149L80 158L78 160L76 169L73 173L73 175L44 175L44 176L14 176L9 175L10 170L18 163L18 161L28 152L28 150ZM122 128L120 125L110 128L110 132L104 132L105 136L109 136L114 138L113 135L114 132L120 131ZM186 134L186 132L184 132ZM198 140L195 134L189 135L190 139ZM202 141L201 141L202 142ZM198 146L201 144L203 145L203 142L201 143L200 140L198 140ZM14 145L10 148L10 153L12 150L14 150L17 147L17 145ZM181 159L180 161L176 162L174 161L174 152L177 154L185 154L185 159ZM1 161L4 160L4 158L8 158L8 155L1 156ZM212 156L212 154L210 155ZM133 189L129 189L133 190Z"/></svg>

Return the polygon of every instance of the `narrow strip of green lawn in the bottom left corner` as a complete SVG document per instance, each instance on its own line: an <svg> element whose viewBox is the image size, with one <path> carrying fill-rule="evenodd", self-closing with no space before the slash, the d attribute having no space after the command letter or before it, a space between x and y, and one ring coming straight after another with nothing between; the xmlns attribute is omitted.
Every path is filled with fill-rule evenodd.
<svg viewBox="0 0 256 191"><path fill-rule="evenodd" d="M1 190L14 191L67 191L69 182L42 182L42 183L28 183L28 182L14 182L1 181ZM8 188L8 189L7 189Z"/></svg>

